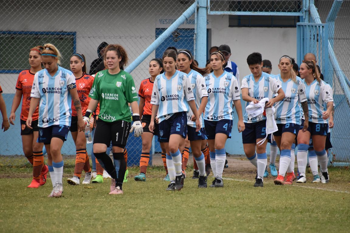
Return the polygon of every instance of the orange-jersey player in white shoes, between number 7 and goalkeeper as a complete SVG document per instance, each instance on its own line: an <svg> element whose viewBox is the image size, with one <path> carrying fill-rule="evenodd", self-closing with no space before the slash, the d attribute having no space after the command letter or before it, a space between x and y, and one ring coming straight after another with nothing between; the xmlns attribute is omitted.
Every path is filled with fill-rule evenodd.
<svg viewBox="0 0 350 233"><path fill-rule="evenodd" d="M84 54L75 53L70 58L70 70L75 76L75 83L79 95L80 104L82 105L82 113L85 114L87 106L90 102L89 92L92 87L94 77L86 74L86 60ZM83 184L90 184L91 167L89 156L86 152L86 139L84 131L78 132L78 117L75 106L72 104L72 121L70 125L70 132L76 147L76 157L74 166L74 175L68 178L67 182L72 185L80 184L80 177L83 170L85 171L85 178Z"/></svg>

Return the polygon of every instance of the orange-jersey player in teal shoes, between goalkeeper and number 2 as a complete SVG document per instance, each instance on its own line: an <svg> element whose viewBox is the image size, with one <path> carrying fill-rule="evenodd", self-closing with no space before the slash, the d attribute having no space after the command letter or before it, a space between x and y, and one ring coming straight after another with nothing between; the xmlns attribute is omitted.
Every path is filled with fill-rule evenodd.
<svg viewBox="0 0 350 233"><path fill-rule="evenodd" d="M149 131L148 126L149 126L149 123L151 122L151 115L152 115L151 96L152 96L152 90L153 90L153 83L157 75L164 72L162 60L156 59L156 58L152 59L149 62L148 72L151 75L151 77L141 81L140 89L139 89L139 96L140 96L139 112L140 112L142 127L144 128L144 133L141 135L142 152L141 152L141 158L140 158L140 173L134 177L135 181L146 181L146 172L147 172L147 166L149 162L149 151L151 150L153 135L158 135L158 124L154 124L155 129L153 133ZM162 144L163 143L161 143L161 147L163 146ZM165 148L164 150L162 148L162 151L165 152Z"/></svg>

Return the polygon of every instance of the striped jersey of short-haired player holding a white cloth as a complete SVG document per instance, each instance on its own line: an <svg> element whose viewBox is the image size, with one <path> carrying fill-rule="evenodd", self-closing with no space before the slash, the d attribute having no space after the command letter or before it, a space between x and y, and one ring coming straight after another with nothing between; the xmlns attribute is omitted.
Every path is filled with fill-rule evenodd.
<svg viewBox="0 0 350 233"><path fill-rule="evenodd" d="M249 74L242 80L241 89L248 88L248 95L257 100L262 100L264 98L272 99L281 85L278 84L277 80L270 74L262 72L260 79L255 82L253 74ZM243 121L245 123L254 123L262 120L266 120L266 116L260 114L256 117L248 117L245 108L250 104L250 102L245 103Z"/></svg>

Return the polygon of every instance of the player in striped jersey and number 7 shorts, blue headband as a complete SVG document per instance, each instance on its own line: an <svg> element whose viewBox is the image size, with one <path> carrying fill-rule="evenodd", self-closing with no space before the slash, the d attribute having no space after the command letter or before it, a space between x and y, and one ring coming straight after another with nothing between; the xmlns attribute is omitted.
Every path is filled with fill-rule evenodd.
<svg viewBox="0 0 350 233"><path fill-rule="evenodd" d="M33 153L40 154L42 144L45 145L48 154L49 172L54 186L49 197L61 197L64 164L61 148L67 139L71 124L72 99L77 111L79 131L84 130L84 122L74 75L69 70L58 66L61 54L54 45L45 44L43 47L41 59L45 69L36 72L34 76L26 125L29 129L33 129L32 116L40 101L39 143L33 145ZM40 155L42 155L42 152Z"/></svg>

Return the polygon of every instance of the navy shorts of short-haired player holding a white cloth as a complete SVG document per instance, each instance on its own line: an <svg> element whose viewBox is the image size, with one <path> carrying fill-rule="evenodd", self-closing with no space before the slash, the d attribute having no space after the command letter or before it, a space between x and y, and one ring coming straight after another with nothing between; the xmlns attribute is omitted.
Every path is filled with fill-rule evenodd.
<svg viewBox="0 0 350 233"><path fill-rule="evenodd" d="M245 143L257 143L258 138L266 137L266 120L245 123L245 130L242 132L242 141Z"/></svg>

